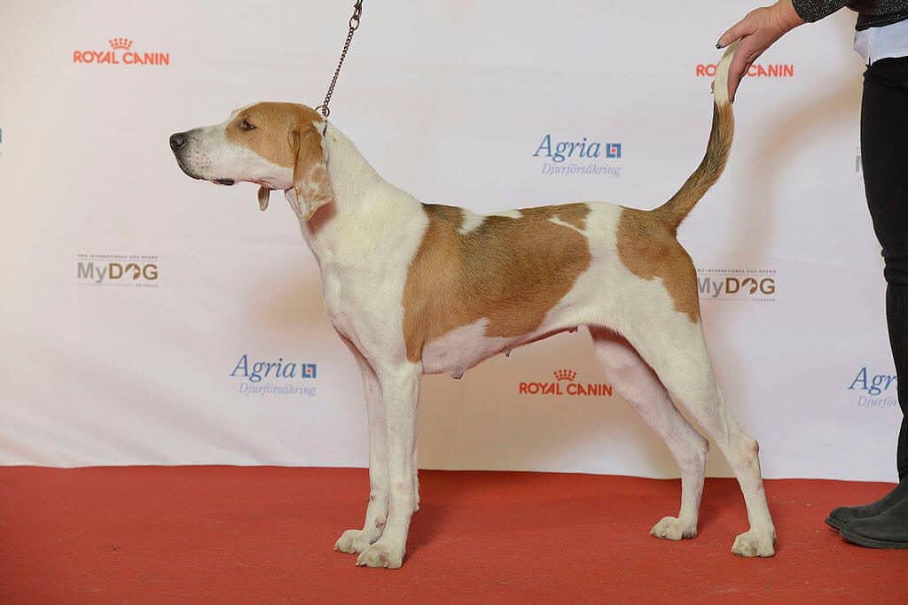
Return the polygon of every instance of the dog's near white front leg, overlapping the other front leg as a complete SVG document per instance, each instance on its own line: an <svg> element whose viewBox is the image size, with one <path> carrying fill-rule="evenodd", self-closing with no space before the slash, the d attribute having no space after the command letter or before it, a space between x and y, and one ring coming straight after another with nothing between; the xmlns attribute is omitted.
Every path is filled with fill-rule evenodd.
<svg viewBox="0 0 908 605"><path fill-rule="evenodd" d="M418 364L400 364L378 370L388 435L390 502L388 522L378 542L362 551L357 565L397 569L407 551L410 517L416 511L413 468L416 446L416 411L419 403Z"/></svg>

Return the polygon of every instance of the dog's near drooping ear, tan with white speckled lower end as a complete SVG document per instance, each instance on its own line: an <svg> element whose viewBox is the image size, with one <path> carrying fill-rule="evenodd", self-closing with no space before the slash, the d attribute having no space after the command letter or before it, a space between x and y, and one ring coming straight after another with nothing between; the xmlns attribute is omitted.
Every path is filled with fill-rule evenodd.
<svg viewBox="0 0 908 605"><path fill-rule="evenodd" d="M334 201L321 137L319 129L311 123L300 124L291 132L291 148L296 155L293 192L306 219L311 219L316 210Z"/></svg>

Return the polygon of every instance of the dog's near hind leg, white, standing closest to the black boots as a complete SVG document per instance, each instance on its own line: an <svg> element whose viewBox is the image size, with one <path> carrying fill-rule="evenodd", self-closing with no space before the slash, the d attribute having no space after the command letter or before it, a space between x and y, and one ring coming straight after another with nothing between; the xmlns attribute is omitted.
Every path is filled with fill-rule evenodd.
<svg viewBox="0 0 908 605"><path fill-rule="evenodd" d="M629 339L676 402L713 437L735 471L750 530L737 536L732 552L743 557L771 557L775 554L775 526L766 504L759 445L725 407L700 323L678 317L677 323L656 325L637 335L638 339Z"/></svg>

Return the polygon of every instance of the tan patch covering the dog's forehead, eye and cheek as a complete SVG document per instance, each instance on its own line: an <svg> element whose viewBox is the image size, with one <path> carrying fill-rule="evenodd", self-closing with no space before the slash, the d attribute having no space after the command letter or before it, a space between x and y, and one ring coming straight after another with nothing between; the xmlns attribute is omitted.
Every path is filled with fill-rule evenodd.
<svg viewBox="0 0 908 605"><path fill-rule="evenodd" d="M242 130L243 120L248 120L255 129ZM319 112L292 102L260 102L243 109L233 116L224 132L228 141L248 147L262 158L284 168L292 168L297 154L293 148L291 133L305 134L315 131L313 122L321 122ZM321 145L317 137L303 138L310 145ZM321 155L319 149L304 150L311 155Z"/></svg>

